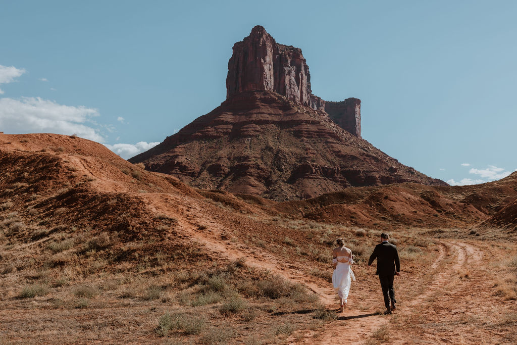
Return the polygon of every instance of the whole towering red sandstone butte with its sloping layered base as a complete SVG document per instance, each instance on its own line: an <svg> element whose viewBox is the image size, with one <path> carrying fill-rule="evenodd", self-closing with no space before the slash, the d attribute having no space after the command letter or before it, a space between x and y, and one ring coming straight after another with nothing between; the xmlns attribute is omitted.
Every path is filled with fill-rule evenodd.
<svg viewBox="0 0 517 345"><path fill-rule="evenodd" d="M301 50L262 26L235 43L226 89L221 106L129 161L197 188L278 201L354 186L446 185L362 139L360 100L314 96Z"/></svg>

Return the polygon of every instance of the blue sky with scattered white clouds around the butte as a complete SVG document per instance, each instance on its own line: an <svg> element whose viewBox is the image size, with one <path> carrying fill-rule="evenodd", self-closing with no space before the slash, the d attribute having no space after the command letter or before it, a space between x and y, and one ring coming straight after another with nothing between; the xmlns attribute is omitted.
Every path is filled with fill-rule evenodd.
<svg viewBox="0 0 517 345"><path fill-rule="evenodd" d="M2 1L0 131L77 133L124 158L225 99L236 41L299 47L312 91L451 184L517 169L515 1ZM467 165L468 164L468 165Z"/></svg>

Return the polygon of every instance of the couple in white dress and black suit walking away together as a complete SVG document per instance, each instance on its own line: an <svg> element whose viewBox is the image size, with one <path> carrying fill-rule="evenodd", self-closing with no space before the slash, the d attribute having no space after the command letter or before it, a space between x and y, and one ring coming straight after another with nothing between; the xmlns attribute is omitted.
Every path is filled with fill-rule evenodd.
<svg viewBox="0 0 517 345"><path fill-rule="evenodd" d="M389 236L386 233L381 234L381 243L375 246L368 267L377 259L376 275L379 276L381 289L384 296L384 305L386 306L385 314L391 314L396 309L395 290L393 289L394 277L400 275L400 261L397 247L388 242ZM336 240L338 248L332 250L332 264L334 272L332 274L332 285L338 293L340 302L340 311L346 309L346 299L350 291L352 280L356 280L354 272L352 272L352 250L345 247L341 238Z"/></svg>

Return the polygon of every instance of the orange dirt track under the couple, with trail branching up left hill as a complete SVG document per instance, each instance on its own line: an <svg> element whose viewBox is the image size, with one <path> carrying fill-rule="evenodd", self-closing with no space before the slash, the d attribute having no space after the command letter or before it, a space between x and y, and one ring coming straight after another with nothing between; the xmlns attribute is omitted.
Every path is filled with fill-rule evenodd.
<svg viewBox="0 0 517 345"><path fill-rule="evenodd" d="M151 211L185 214L186 210L173 209L172 205L177 203L170 197L168 200L161 200L162 197L159 194L146 194L145 198L149 201ZM230 260L246 258L249 265L266 268L273 274L303 283L318 294L321 302L329 309L337 307L336 294L331 284L307 275L303 265L285 262L285 259L276 257L261 248L250 248L244 244L222 240L221 234L224 230L220 230L221 227L215 223L208 224L210 231L196 230L195 224L203 221L195 216L198 211L190 209L188 213L191 216L179 221L189 236L196 238L221 257ZM452 322L450 328L444 332L440 324L444 320L461 319L470 310L482 308L482 299L468 298L468 302L463 302L463 296L476 296L477 291L482 289L488 291L490 290L488 285L493 286L493 282L483 279L477 273L474 274L476 268L483 262L484 256L485 253L479 246L455 239L439 241L437 257L423 275L424 278L419 281L410 281L408 277L396 278L401 289L397 290L399 303L393 316L379 313L384 308L382 301L379 301L382 300L382 296L377 280L372 277L366 279L358 276L358 281L354 282L349 296L348 309L338 314L336 322L319 335L314 331L295 332L287 342L360 344L369 339L374 343L400 344L425 342L431 339L431 342L435 343L464 342L465 335L461 332L467 331L468 327L457 327ZM373 276L374 271L373 268L371 269L372 271L366 272ZM470 278L465 278L465 275ZM486 298L490 299L490 296ZM464 318L458 321L458 323L461 322L463 325L466 323ZM402 328L404 332L390 331L393 327ZM478 339L482 337L478 336Z"/></svg>

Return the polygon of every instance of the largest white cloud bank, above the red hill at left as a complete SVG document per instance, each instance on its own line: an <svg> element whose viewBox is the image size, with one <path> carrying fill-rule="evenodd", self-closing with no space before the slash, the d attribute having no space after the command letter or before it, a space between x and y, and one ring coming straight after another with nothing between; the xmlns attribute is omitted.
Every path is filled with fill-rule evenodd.
<svg viewBox="0 0 517 345"><path fill-rule="evenodd" d="M75 133L103 142L97 129L85 125L95 116L99 116L97 109L64 106L39 97L0 98L0 128L6 133Z"/></svg>

